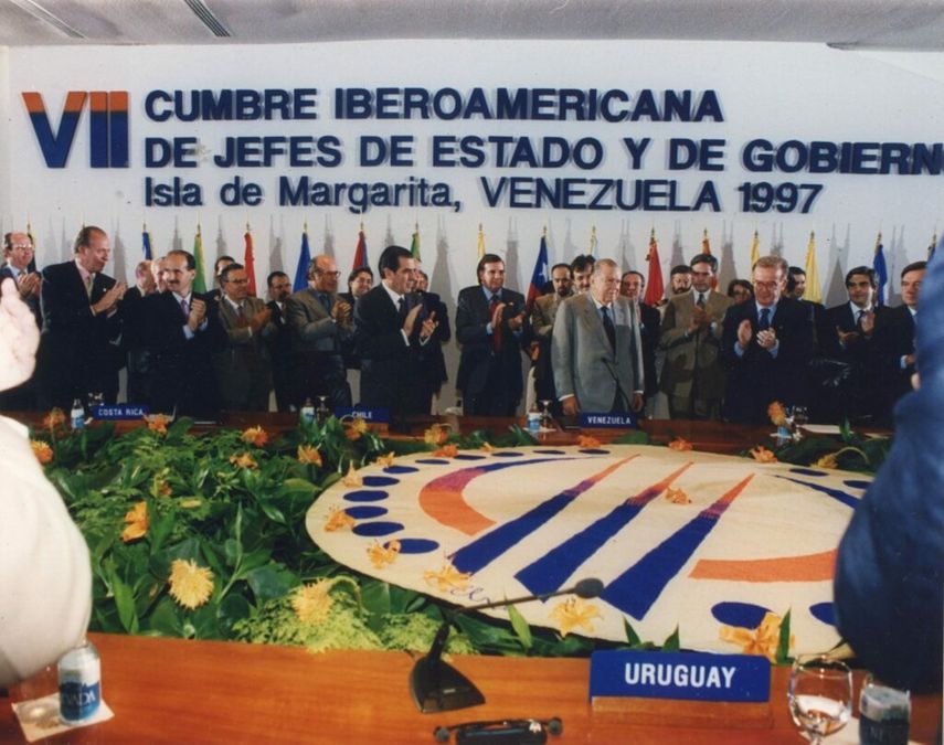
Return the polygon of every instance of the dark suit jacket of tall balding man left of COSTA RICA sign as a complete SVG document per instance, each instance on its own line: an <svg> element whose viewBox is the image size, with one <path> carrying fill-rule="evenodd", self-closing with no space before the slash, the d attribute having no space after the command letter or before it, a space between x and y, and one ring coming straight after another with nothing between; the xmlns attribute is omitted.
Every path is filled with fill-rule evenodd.
<svg viewBox="0 0 944 745"><path fill-rule="evenodd" d="M89 297L74 260L43 269L43 330L36 355L40 406L67 408L74 398L104 393L114 403L118 393L121 312L92 312L115 280L95 275Z"/></svg>

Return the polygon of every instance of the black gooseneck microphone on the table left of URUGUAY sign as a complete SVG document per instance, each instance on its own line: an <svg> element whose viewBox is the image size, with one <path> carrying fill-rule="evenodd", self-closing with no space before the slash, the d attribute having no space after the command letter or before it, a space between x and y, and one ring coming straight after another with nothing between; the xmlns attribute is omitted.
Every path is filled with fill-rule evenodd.
<svg viewBox="0 0 944 745"><path fill-rule="evenodd" d="M416 660L410 672L410 695L413 702L424 714L432 712L452 711L465 709L485 703L485 696L475 684L448 662L444 662L443 649L449 638L449 630L457 616L463 616L473 610L487 610L507 605L519 605L533 600L547 600L559 595L576 595L584 599L597 597L603 592L603 583L595 577L581 579L573 587L559 589L555 593L544 595L526 595L510 600L496 600L495 603L482 603L465 608L456 608L446 614L443 625L436 631L429 651L425 657Z"/></svg>

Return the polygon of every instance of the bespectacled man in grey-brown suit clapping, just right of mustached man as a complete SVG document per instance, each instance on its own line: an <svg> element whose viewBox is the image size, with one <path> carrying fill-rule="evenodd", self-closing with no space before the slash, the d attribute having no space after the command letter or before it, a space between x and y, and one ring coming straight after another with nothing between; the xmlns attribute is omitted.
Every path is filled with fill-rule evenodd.
<svg viewBox="0 0 944 745"><path fill-rule="evenodd" d="M248 281L242 264L229 264L220 273L220 324L230 343L213 355L213 366L223 408L267 412L272 360L266 340L276 328L265 301L248 296Z"/></svg>

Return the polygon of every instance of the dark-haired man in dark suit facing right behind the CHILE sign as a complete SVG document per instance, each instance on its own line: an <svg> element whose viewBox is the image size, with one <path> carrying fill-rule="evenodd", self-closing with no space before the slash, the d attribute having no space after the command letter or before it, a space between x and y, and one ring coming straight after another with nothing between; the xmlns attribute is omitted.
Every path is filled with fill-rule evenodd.
<svg viewBox="0 0 944 745"><path fill-rule="evenodd" d="M389 408L392 417L428 414L422 351L436 330L435 310L426 313L416 287L416 262L402 246L380 255L380 284L354 310L354 343L361 360L363 406Z"/></svg>

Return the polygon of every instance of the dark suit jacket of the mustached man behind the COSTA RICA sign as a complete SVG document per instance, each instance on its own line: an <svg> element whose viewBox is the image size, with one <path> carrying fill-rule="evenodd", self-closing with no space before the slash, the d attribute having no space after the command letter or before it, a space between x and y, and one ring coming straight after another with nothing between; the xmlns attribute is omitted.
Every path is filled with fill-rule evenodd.
<svg viewBox="0 0 944 745"><path fill-rule="evenodd" d="M220 395L213 354L226 347L226 332L220 324L220 304L205 295L191 297L206 304L206 318L192 339L183 332L187 317L170 290L149 295L141 300L145 339L141 343L151 352L153 376L149 401L156 412L179 415L216 417Z"/></svg>

